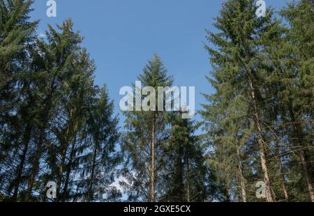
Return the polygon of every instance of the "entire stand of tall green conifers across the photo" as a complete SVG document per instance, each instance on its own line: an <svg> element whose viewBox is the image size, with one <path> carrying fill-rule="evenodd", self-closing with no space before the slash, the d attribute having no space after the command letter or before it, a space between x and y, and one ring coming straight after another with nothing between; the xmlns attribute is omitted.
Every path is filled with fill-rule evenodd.
<svg viewBox="0 0 314 216"><path fill-rule="evenodd" d="M128 111L123 128L73 22L39 37L32 3L0 0L0 201L314 201L313 0L259 18L226 0L202 121ZM138 80L174 81L158 55Z"/></svg>

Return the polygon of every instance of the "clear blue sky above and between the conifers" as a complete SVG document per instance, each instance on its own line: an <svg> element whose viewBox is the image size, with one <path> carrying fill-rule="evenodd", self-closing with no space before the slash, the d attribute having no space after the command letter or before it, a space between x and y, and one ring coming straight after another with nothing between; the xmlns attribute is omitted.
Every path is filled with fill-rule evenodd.
<svg viewBox="0 0 314 216"><path fill-rule="evenodd" d="M223 0L55 0L57 17L46 16L46 0L36 0L32 19L40 20L38 33L47 24L71 17L96 61L96 84L107 84L119 111L119 89L130 86L148 59L158 53L177 86L195 86L196 109L214 90L205 79L211 69L204 50L204 29L218 15ZM280 8L285 0L264 0ZM122 118L123 119L123 118ZM197 118L198 119L198 118Z"/></svg>

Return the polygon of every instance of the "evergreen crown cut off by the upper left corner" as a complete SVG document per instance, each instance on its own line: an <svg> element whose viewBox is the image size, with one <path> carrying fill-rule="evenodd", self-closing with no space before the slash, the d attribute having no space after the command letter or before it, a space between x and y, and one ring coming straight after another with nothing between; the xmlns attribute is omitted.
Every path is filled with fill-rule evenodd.
<svg viewBox="0 0 314 216"><path fill-rule="evenodd" d="M0 89L12 91L20 63L26 58L27 43L33 39L37 22L29 22L31 3L27 0L0 1ZM2 111L1 111L2 112Z"/></svg>

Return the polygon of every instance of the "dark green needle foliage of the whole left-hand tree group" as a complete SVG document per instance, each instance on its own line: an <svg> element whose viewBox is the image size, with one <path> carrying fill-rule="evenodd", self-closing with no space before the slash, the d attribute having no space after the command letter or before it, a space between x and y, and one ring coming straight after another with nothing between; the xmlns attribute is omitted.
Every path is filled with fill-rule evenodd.
<svg viewBox="0 0 314 216"><path fill-rule="evenodd" d="M0 1L1 197L49 201L54 181L54 201L117 199L113 102L94 84L94 61L73 22L38 38L31 3Z"/></svg>

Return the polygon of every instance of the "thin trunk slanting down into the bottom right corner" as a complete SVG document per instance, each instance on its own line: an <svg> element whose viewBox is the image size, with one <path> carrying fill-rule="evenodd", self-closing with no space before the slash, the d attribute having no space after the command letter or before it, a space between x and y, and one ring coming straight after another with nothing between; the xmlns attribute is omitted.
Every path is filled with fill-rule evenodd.
<svg viewBox="0 0 314 216"><path fill-rule="evenodd" d="M312 179L311 179L311 173L310 173L310 169L308 169L308 164L307 164L307 160L306 160L306 153L304 151L304 144L302 141L302 132L301 132L301 128L299 127L299 124L296 122L296 118L294 116L294 111L292 110L292 106L290 103L290 116L291 116L291 120L293 123L293 128L294 128L294 134L297 135L297 139L299 142L299 146L301 146L301 150L299 150L299 157L301 160L301 164L302 164L302 168L304 171L304 176L306 178L306 184L308 186L308 194L310 196L310 199L312 202L314 202L314 191L313 191L313 183L312 183Z"/></svg>

